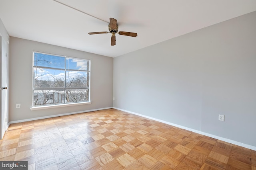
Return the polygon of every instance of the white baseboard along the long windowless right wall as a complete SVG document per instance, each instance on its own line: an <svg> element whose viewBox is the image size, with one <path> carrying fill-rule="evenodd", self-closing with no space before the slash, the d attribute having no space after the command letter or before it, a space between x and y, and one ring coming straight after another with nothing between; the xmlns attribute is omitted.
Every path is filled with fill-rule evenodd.
<svg viewBox="0 0 256 170"><path fill-rule="evenodd" d="M232 143L232 144L238 145L238 146L240 146L240 147L244 147L244 148L256 150L256 147L255 147L255 146L252 146L252 145L247 145L247 144L244 144L244 143L241 143L241 142L233 141L233 140L231 140L231 139L226 139L226 138L223 138L223 137L219 137L219 136L216 136L216 135L212 135L212 134L210 134L210 133L205 133L205 132L202 132L202 131L198 131L198 130L195 130L195 129L191 129L191 128L188 128L188 127L185 127L185 126L177 125L177 124L170 123L170 122L167 122L167 121L164 121L164 120L161 120L161 119L156 119L156 118L154 118L154 117L149 117L149 116L146 116L146 115L142 115L142 114L139 114L139 113L135 113L135 112L132 112L132 111L120 109L120 108L117 108L117 107L113 107L113 108L114 108L114 109L121 110L121 111L125 111L125 112L128 112L128 113L132 113L132 114L134 114L134 115L142 116L142 117L145 117L145 118L148 118L148 119L152 119L152 120L155 120L155 121L159 121L159 122L162 122L162 123L165 123L165 124L168 124L168 125L172 125L172 126L175 126L175 127L179 127L179 128L181 128L181 129L186 129L186 130L192 131L192 132L194 132L194 133L198 133L198 134L201 134L201 135L205 135L205 136L208 136L208 137L212 137L212 138L215 138L215 139L219 139L219 140L221 140L221 141L228 142L228 143Z"/></svg>

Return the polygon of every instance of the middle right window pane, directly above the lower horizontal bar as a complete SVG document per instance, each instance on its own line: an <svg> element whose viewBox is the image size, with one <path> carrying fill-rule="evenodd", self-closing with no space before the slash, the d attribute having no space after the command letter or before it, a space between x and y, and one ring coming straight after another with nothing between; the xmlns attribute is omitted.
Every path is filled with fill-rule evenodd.
<svg viewBox="0 0 256 170"><path fill-rule="evenodd" d="M88 72L66 71L66 87L88 87Z"/></svg>

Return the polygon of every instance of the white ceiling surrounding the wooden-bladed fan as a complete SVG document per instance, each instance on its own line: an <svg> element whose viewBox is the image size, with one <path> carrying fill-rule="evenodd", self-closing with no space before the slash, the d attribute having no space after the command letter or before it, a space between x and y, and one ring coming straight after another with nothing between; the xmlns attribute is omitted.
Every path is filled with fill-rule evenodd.
<svg viewBox="0 0 256 170"><path fill-rule="evenodd" d="M0 0L10 36L109 57L253 11L256 0ZM109 18L138 36L116 35L111 46L111 34L88 35L108 31Z"/></svg>

